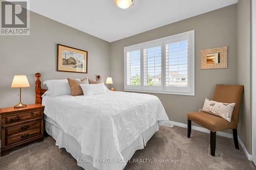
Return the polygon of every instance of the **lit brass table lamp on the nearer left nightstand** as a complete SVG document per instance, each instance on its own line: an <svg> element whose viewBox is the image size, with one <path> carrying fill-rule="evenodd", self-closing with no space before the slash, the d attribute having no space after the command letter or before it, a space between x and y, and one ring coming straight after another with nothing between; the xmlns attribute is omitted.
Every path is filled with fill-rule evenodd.
<svg viewBox="0 0 256 170"><path fill-rule="evenodd" d="M19 103L17 105L15 105L14 108L27 107L27 105L24 105L22 103L22 88L23 87L30 87L27 76L26 75L16 75L16 76L14 76L11 87L12 88L19 88Z"/></svg>

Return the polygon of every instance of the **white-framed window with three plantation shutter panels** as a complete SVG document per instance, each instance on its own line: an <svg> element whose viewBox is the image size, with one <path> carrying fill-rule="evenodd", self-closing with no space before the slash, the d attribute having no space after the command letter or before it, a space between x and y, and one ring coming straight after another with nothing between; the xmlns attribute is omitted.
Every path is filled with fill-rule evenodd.
<svg viewBox="0 0 256 170"><path fill-rule="evenodd" d="M124 90L195 95L194 34L124 47Z"/></svg>

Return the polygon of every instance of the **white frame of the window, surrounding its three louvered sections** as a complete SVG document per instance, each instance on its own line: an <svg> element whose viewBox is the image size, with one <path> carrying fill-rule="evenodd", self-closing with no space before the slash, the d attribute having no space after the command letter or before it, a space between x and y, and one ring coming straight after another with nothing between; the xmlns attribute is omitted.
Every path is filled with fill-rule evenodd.
<svg viewBox="0 0 256 170"><path fill-rule="evenodd" d="M186 37L186 38L185 38ZM188 40L188 86L187 87L167 87L166 86L166 70L165 70L165 45L175 40ZM154 46L161 44L161 86L144 86L144 58L143 47ZM127 85L127 52L140 50L140 85ZM160 88L161 89L160 89ZM142 42L124 47L124 91L149 92L149 93L164 93L178 95L193 95L195 96L195 30L187 31L180 34L175 34L168 37L159 38L152 41Z"/></svg>

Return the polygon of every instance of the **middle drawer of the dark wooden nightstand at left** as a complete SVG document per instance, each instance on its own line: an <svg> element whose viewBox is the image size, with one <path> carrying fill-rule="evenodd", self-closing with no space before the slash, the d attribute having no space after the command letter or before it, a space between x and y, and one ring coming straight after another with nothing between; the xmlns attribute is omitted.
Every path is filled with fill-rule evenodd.
<svg viewBox="0 0 256 170"><path fill-rule="evenodd" d="M40 127L40 120L36 120L34 122L30 122L27 124L22 124L22 125L17 125L17 126L12 126L12 127L6 128L6 135L10 136L14 133L19 133L22 131L27 131L27 130L39 128L39 127Z"/></svg>

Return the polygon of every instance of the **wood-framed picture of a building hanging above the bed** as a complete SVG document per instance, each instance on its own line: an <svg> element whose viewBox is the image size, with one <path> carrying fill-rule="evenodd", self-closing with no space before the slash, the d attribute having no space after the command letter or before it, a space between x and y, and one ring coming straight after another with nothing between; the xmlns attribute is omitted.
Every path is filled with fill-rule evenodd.
<svg viewBox="0 0 256 170"><path fill-rule="evenodd" d="M87 51L58 44L57 56L57 71L87 73Z"/></svg>

